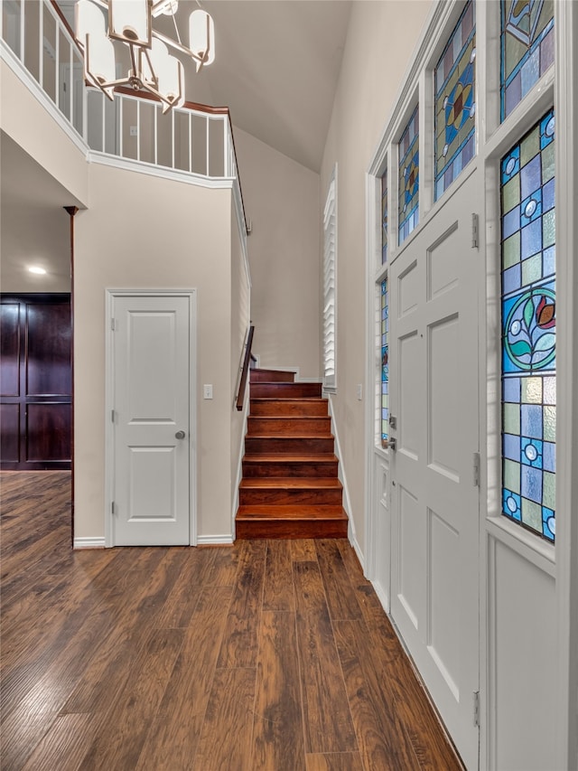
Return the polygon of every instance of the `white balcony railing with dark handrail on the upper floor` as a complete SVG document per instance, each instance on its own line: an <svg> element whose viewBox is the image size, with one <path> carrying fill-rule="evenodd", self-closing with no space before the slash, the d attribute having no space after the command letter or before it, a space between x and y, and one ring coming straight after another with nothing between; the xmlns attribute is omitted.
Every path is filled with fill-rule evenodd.
<svg viewBox="0 0 578 771"><path fill-rule="evenodd" d="M237 157L227 108L186 103L162 114L148 94L117 89L110 101L87 88L82 52L60 8L50 0L2 1L3 57L23 65L61 118L97 154L187 174L206 186L232 181L247 235ZM5 55L9 49L11 54Z"/></svg>

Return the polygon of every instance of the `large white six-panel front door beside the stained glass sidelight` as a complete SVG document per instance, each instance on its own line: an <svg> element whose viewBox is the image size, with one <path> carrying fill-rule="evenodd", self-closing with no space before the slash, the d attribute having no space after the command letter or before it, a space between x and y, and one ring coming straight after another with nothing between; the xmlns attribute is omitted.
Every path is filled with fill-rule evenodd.
<svg viewBox="0 0 578 771"><path fill-rule="evenodd" d="M469 178L390 268L391 613L468 768L478 766L478 260Z"/></svg>

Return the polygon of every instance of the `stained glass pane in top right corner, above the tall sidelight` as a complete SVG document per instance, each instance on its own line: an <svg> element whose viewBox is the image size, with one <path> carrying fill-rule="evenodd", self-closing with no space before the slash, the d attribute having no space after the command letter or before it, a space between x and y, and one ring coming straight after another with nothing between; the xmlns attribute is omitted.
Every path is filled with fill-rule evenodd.
<svg viewBox="0 0 578 771"><path fill-rule="evenodd" d="M554 62L554 0L502 0L501 118Z"/></svg>

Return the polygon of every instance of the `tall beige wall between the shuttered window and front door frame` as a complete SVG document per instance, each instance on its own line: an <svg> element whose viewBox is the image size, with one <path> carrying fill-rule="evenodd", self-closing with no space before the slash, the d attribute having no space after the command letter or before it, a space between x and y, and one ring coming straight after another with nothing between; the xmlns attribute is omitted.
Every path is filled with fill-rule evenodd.
<svg viewBox="0 0 578 771"><path fill-rule="evenodd" d="M361 552L365 546L365 174L431 7L430 0L355 2L322 164L322 199L338 164L337 393L333 415ZM363 56L359 56L363 52ZM364 389L371 394L370 384Z"/></svg>

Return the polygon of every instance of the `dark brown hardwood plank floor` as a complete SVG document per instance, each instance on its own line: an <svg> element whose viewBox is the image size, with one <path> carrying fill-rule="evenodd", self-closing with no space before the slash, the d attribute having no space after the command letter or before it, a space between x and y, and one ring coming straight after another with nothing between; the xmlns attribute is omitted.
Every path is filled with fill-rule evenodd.
<svg viewBox="0 0 578 771"><path fill-rule="evenodd" d="M72 551L0 481L3 771L461 768L348 541Z"/></svg>

